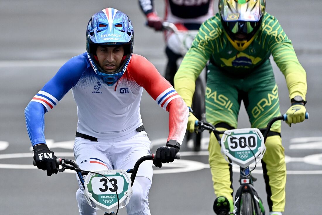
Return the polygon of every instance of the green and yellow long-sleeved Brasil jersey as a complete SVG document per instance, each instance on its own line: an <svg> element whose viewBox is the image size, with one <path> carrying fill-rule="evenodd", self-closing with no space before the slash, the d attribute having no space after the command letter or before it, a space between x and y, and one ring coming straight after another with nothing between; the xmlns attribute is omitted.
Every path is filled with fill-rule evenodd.
<svg viewBox="0 0 322 215"><path fill-rule="evenodd" d="M262 19L262 26L253 42L243 51L236 50L229 42L219 13L202 24L174 80L176 91L188 106L192 103L195 80L208 60L211 66L223 73L240 77L264 64L270 55L286 78L289 97L300 95L305 100L306 73L298 62L291 41L274 16L265 12Z"/></svg>

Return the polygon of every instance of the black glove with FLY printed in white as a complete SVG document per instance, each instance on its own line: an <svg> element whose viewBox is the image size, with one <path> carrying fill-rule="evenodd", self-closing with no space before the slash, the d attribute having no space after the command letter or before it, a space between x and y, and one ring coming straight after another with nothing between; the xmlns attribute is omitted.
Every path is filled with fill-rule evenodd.
<svg viewBox="0 0 322 215"><path fill-rule="evenodd" d="M47 175L57 173L56 156L49 150L46 144L38 144L33 147L33 160L35 160L38 169L47 170Z"/></svg>

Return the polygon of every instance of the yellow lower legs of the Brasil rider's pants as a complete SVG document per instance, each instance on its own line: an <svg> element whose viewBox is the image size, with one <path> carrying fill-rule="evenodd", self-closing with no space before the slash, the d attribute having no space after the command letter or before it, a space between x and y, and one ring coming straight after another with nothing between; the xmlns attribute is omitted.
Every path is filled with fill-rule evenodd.
<svg viewBox="0 0 322 215"><path fill-rule="evenodd" d="M225 131L225 128L216 128L219 131ZM284 147L280 136L269 136L265 143L266 152L263 157L264 177L269 184L267 191L270 211L283 212L285 208L285 184L286 184L286 164ZM228 162L220 152L220 146L217 139L211 133L209 142L209 165L213 179L213 188L216 196L224 196L228 200L232 197L232 182ZM265 165L266 164L266 165Z"/></svg>

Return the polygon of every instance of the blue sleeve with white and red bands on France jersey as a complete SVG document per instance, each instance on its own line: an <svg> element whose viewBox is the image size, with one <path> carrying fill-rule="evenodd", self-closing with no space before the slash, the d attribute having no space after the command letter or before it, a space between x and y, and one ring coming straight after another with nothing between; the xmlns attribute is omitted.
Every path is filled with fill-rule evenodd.
<svg viewBox="0 0 322 215"><path fill-rule="evenodd" d="M46 143L44 114L51 110L74 87L89 67L86 55L67 61L29 102L24 110L27 132L32 145Z"/></svg>

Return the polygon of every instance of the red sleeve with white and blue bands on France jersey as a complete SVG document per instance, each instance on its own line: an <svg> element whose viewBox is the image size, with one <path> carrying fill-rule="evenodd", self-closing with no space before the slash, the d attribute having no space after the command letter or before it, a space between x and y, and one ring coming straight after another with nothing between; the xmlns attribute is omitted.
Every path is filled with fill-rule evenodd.
<svg viewBox="0 0 322 215"><path fill-rule="evenodd" d="M169 112L168 140L176 140L181 144L189 114L183 99L146 58L133 54L128 71L134 81L142 86L160 107Z"/></svg>

